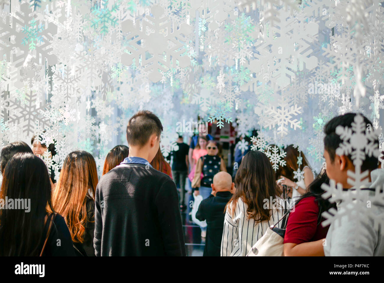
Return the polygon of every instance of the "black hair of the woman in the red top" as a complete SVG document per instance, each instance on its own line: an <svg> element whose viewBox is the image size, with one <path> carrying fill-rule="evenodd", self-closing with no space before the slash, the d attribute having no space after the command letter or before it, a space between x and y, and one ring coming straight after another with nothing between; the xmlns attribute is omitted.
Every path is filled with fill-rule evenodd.
<svg viewBox="0 0 384 283"><path fill-rule="evenodd" d="M325 192L321 188L322 184L329 185L329 178L324 168L321 169L319 175L314 178L312 183L308 185L306 193L302 195L298 200L296 200L295 205L297 205L299 201L301 201L303 198L307 198L308 196L314 196L315 200L318 201L321 206L320 214L324 211L329 210L329 208L331 207L336 208L336 203L330 203L328 200L324 200L324 198L321 197L321 195L323 195L323 193Z"/></svg>

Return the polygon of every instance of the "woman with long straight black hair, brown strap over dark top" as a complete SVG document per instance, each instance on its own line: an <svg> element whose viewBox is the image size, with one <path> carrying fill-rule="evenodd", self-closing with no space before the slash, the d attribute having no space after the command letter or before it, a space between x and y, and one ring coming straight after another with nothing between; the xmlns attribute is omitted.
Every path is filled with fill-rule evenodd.
<svg viewBox="0 0 384 283"><path fill-rule="evenodd" d="M23 203L23 209L7 209L6 199ZM64 218L47 210L54 211L43 160L33 153L13 156L3 172L0 200L0 256L74 256Z"/></svg>

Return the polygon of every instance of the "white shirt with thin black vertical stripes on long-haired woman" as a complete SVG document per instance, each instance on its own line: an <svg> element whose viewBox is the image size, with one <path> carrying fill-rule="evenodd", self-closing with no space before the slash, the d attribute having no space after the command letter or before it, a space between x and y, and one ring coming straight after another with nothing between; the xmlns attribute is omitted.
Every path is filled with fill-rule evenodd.
<svg viewBox="0 0 384 283"><path fill-rule="evenodd" d="M264 235L266 229L283 216L283 209L273 209L268 221L255 223L253 218L248 219L248 205L241 198L237 200L235 213L232 216L232 211L228 212L228 208L233 206L232 203L227 206L225 212L220 256L246 256L257 240ZM280 225L281 221L277 227L280 228Z"/></svg>

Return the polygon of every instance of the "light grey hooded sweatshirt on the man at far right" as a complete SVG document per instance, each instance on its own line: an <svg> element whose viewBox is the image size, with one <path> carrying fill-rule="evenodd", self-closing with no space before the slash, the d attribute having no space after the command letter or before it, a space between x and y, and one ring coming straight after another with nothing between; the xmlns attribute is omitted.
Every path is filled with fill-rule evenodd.
<svg viewBox="0 0 384 283"><path fill-rule="evenodd" d="M384 169L371 171L371 181L364 187L383 188ZM361 192L365 198L359 198L362 199L360 206L336 200L338 215L343 216L329 227L324 243L325 256L384 256L384 194L374 198L374 191Z"/></svg>

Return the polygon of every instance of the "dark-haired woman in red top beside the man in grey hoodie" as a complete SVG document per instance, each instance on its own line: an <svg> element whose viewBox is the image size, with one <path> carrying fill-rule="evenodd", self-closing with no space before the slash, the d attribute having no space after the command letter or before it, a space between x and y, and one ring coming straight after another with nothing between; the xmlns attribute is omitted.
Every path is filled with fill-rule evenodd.
<svg viewBox="0 0 384 283"><path fill-rule="evenodd" d="M329 184L324 168L308 186L308 192L296 201L295 210L290 212L284 236L285 256L324 256L323 245L329 225L321 226L324 220L321 213L335 205L321 197L323 183Z"/></svg>

